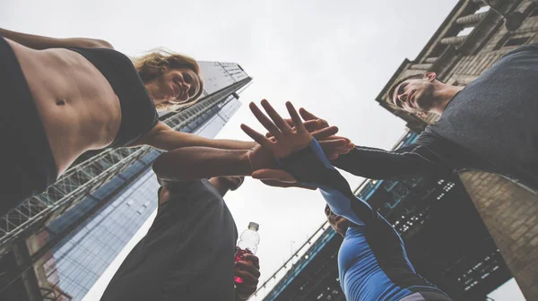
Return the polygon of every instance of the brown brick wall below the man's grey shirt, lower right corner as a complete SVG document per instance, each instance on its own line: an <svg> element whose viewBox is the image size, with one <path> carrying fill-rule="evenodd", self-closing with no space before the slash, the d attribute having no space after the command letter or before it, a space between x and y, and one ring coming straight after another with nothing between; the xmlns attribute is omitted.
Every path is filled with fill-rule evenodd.
<svg viewBox="0 0 538 301"><path fill-rule="evenodd" d="M527 300L538 300L538 195L502 176L460 175Z"/></svg>

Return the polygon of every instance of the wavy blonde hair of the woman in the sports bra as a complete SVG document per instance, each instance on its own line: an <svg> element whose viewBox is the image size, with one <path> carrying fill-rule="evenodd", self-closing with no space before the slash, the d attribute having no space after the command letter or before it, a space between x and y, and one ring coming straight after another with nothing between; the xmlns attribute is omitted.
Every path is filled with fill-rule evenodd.
<svg viewBox="0 0 538 301"><path fill-rule="evenodd" d="M140 75L142 82L151 82L157 77L161 76L164 67L169 69L178 69L178 68L187 68L198 75L198 80L200 82L200 90L192 98L185 103L174 103L170 101L165 101L159 105L156 105L158 111L171 111L178 109L180 107L190 107L196 103L204 92L204 82L202 80L202 74L200 70L200 65L196 63L195 59L190 56L179 55L173 53L165 48L156 48L152 49L148 54L131 58L134 64L134 68Z"/></svg>

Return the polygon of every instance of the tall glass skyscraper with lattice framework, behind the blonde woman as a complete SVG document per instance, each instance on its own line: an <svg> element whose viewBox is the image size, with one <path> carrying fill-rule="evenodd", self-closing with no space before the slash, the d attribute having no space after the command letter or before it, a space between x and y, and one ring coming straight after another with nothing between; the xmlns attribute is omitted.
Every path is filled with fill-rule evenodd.
<svg viewBox="0 0 538 301"><path fill-rule="evenodd" d="M200 62L200 66L202 98L160 119L178 131L213 138L239 109L239 92L252 79L239 64ZM7 272L0 275L0 299L81 300L156 210L159 185L151 166L160 153L142 147L84 154L71 168L74 173L68 171L60 182L87 172L91 176L82 185L94 185L91 189L73 187L54 200L49 189L11 212L13 216L28 211L36 199L48 201L40 206L48 212L39 222L26 217L18 228L4 228L0 266ZM39 217L39 211L35 213Z"/></svg>

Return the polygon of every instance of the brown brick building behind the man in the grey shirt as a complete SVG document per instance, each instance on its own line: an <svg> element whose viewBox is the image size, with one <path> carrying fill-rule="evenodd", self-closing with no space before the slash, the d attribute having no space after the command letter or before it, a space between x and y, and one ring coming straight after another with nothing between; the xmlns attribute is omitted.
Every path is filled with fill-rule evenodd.
<svg viewBox="0 0 538 301"><path fill-rule="evenodd" d="M472 82L499 57L538 42L538 3L530 0L461 0L413 60L405 59L377 96L377 102L404 119L415 132L437 118L399 111L387 98L395 82L434 71L454 85ZM538 299L538 195L502 176L460 175L467 192L528 300Z"/></svg>

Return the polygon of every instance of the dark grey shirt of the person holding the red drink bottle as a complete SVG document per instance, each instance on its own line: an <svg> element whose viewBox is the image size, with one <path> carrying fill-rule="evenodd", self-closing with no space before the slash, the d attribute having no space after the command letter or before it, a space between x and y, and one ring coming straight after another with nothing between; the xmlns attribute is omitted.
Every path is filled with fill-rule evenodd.
<svg viewBox="0 0 538 301"><path fill-rule="evenodd" d="M235 222L207 180L170 192L101 301L234 300Z"/></svg>

